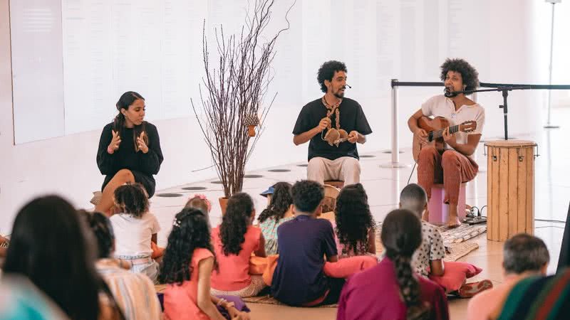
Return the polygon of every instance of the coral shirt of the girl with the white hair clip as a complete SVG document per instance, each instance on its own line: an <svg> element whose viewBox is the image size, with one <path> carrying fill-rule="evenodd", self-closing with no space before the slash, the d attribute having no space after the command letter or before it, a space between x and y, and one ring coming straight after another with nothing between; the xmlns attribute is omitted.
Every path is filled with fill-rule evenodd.
<svg viewBox="0 0 570 320"><path fill-rule="evenodd" d="M200 260L213 257L212 252L202 247L192 253L192 274L190 281L182 285L168 284L165 289L165 316L170 320L209 319L198 307L198 263Z"/></svg>

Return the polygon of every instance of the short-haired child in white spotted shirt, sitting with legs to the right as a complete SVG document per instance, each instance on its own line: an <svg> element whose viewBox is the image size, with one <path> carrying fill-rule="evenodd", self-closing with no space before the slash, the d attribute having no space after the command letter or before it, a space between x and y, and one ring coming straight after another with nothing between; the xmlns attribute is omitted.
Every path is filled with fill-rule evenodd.
<svg viewBox="0 0 570 320"><path fill-rule="evenodd" d="M400 208L408 209L421 219L427 208L427 195L423 188L410 183L400 193ZM443 262L445 247L440 231L435 225L422 220L422 245L413 255L412 265L415 272L429 277L440 284L447 292L460 297L469 298L478 292L492 287L492 282L485 279L481 282L465 284L467 276L473 277L481 272L480 268L464 262Z"/></svg>

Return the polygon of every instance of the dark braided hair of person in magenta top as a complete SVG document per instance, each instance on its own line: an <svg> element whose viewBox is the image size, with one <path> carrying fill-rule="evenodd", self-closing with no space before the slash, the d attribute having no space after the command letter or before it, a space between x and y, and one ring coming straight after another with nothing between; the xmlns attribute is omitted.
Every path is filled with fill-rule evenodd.
<svg viewBox="0 0 570 320"><path fill-rule="evenodd" d="M410 210L393 210L382 225L386 256L394 263L400 295L407 307L406 319L427 319L429 306L420 302L420 283L410 266L412 255L422 243L422 223Z"/></svg>

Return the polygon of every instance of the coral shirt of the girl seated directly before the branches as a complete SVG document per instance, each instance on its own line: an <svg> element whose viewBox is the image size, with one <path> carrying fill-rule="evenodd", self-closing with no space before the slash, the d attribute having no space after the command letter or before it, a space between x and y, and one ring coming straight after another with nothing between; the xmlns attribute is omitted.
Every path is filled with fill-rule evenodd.
<svg viewBox="0 0 570 320"><path fill-rule="evenodd" d="M219 272L212 271L212 288L219 291L238 291L252 283L249 275L249 257L259 250L261 229L250 225L244 235L242 251L239 255L224 255L222 240L219 238L219 226L212 229L212 245L216 252Z"/></svg>

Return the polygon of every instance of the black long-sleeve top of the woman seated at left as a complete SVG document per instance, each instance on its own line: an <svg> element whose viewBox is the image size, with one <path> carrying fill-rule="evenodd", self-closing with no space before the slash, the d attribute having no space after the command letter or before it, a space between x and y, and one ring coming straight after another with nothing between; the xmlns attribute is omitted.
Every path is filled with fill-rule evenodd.
<svg viewBox="0 0 570 320"><path fill-rule="evenodd" d="M142 125L142 124L141 124ZM97 166L101 174L105 175L105 181L101 190L105 188L107 183L121 169L128 169L133 172L135 181L145 186L148 196L151 197L155 193L155 178L152 175L157 174L160 170L160 164L164 157L160 149L160 138L154 124L145 122L145 130L148 137L148 152L135 150L135 139L133 138L133 128L126 128L120 131L121 142L119 149L113 154L107 152L107 148L113 139L113 123L107 124L101 132L99 139L99 149L97 151Z"/></svg>

